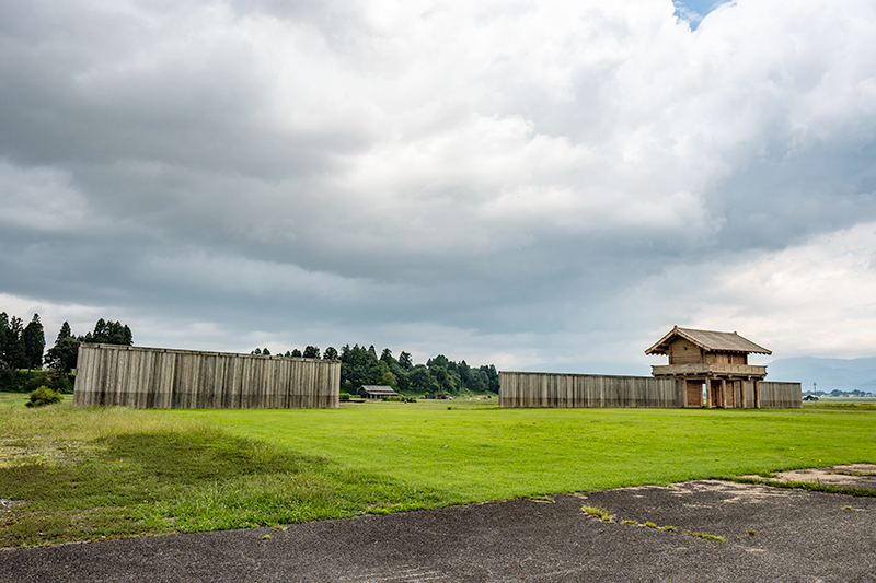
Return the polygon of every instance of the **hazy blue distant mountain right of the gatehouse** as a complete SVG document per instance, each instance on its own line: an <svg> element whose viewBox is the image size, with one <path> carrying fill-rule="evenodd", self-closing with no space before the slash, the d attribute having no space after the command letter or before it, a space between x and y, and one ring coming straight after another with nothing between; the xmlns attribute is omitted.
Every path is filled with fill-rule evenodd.
<svg viewBox="0 0 876 583"><path fill-rule="evenodd" d="M766 364L768 381L799 381L804 390L811 390L818 383L818 390L876 392L876 357L866 359L817 359L800 357L776 359Z"/></svg>

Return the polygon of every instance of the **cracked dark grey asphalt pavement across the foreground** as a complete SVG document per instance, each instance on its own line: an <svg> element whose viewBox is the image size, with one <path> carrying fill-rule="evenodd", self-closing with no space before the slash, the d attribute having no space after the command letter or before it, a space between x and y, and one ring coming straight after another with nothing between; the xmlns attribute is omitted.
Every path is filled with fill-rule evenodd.
<svg viewBox="0 0 876 583"><path fill-rule="evenodd" d="M583 505L610 510L614 518L589 516ZM872 583L876 498L702 480L286 530L4 551L0 581Z"/></svg>

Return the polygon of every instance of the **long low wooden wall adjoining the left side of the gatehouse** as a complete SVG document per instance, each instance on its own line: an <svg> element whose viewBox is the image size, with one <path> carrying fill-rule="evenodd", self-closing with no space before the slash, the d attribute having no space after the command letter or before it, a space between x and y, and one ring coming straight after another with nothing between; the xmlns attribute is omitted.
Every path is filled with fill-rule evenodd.
<svg viewBox="0 0 876 583"><path fill-rule="evenodd" d="M683 407L684 381L499 372L499 407Z"/></svg>

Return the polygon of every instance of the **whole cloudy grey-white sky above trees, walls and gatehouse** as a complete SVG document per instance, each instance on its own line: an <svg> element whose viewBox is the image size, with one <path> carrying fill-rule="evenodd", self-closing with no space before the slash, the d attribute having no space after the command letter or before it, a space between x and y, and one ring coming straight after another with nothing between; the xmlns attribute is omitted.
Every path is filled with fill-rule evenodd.
<svg viewBox="0 0 876 583"><path fill-rule="evenodd" d="M649 374L876 355L876 4L0 2L0 311L47 343Z"/></svg>

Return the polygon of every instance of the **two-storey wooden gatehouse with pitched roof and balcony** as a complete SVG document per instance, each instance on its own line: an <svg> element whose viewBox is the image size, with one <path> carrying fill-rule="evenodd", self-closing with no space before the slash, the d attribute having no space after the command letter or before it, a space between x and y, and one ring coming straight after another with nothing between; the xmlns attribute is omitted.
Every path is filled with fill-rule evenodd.
<svg viewBox="0 0 876 583"><path fill-rule="evenodd" d="M772 354L734 333L679 328L660 338L646 354L669 357L669 364L652 366L657 377L684 381L684 407L760 408L760 382L766 366L748 363L748 354Z"/></svg>

